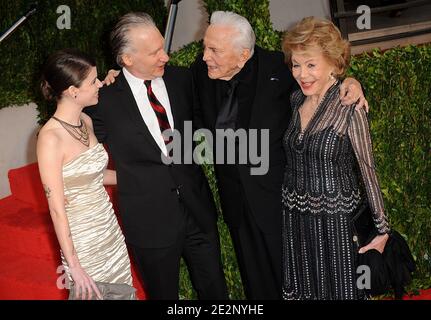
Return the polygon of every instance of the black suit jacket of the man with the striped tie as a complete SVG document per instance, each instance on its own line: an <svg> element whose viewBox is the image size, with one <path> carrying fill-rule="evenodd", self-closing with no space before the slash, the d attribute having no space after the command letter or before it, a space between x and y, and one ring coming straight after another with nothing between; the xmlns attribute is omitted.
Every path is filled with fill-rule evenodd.
<svg viewBox="0 0 431 320"><path fill-rule="evenodd" d="M169 67L163 80L171 104L174 128L184 133L196 99L189 70ZM94 131L107 145L117 171L119 208L126 240L142 248L174 243L184 208L204 232L215 231L216 209L201 168L166 165L161 150L139 112L123 73L99 92L99 103L87 108Z"/></svg>

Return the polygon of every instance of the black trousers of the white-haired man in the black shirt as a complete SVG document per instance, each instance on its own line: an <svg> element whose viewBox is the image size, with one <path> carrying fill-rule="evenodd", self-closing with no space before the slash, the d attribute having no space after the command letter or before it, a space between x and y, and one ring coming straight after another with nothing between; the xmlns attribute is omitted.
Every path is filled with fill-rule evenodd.
<svg viewBox="0 0 431 320"><path fill-rule="evenodd" d="M245 206L239 228L230 228L244 292L249 300L281 299L280 232L264 234Z"/></svg>

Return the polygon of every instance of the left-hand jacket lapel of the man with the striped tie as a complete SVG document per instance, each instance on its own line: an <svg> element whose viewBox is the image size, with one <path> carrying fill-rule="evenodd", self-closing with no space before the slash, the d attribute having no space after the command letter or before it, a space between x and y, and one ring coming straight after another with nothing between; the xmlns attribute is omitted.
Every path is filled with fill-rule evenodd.
<svg viewBox="0 0 431 320"><path fill-rule="evenodd" d="M150 131L148 130L147 125L144 122L144 119L142 119L141 112L139 111L138 104L136 103L135 97L133 96L132 89L130 89L130 86L124 77L123 72L120 73L120 75L117 78L117 90L120 91L120 96L122 97L123 101L123 108L127 110L127 113L129 115L130 121L135 125L139 132L143 134L145 139L149 142L150 145L152 145L158 153L161 152L158 144L154 140L153 136L151 135Z"/></svg>

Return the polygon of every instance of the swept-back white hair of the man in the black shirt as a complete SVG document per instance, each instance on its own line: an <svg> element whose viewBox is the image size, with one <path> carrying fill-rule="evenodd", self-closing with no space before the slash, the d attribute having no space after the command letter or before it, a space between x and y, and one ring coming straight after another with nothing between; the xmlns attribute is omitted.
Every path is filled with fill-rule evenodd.
<svg viewBox="0 0 431 320"><path fill-rule="evenodd" d="M233 27L237 31L234 45L241 49L250 49L250 57L253 56L256 36L246 18L230 11L214 11L211 15L210 25Z"/></svg>

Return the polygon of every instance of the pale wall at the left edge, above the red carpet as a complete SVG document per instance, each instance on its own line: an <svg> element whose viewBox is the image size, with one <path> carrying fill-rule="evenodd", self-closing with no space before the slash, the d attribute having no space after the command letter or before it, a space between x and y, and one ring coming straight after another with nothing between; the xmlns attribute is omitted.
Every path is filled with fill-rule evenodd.
<svg viewBox="0 0 431 320"><path fill-rule="evenodd" d="M10 195L8 171L36 161L38 129L34 103L0 109L0 199Z"/></svg>

